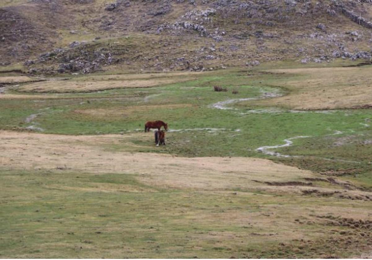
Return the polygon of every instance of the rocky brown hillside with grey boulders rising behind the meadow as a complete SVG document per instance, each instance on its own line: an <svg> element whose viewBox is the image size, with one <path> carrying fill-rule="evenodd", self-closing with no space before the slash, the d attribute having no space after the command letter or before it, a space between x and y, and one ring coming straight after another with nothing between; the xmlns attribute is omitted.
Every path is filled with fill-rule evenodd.
<svg viewBox="0 0 372 260"><path fill-rule="evenodd" d="M371 44L372 0L0 3L0 65L30 73L369 60Z"/></svg>

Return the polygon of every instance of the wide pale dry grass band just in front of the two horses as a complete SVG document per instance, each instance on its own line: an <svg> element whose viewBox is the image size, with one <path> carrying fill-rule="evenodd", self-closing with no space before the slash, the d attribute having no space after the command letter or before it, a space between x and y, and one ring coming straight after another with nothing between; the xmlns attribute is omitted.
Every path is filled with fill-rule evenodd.
<svg viewBox="0 0 372 260"><path fill-rule="evenodd" d="M262 186L259 181L291 181L314 176L306 170L279 165L266 159L197 157L184 158L152 153L129 153L134 137L145 133L102 136L0 132L0 164L11 169L66 168L76 172L136 173L140 180L168 188L224 189ZM128 150L111 152L103 147L126 142ZM141 175L143 174L143 175ZM190 181L192 179L192 181Z"/></svg>

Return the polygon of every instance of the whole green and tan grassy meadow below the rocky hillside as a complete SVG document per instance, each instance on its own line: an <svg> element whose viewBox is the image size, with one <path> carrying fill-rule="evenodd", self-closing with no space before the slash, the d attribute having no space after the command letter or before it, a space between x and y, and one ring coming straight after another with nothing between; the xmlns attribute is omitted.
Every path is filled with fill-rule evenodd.
<svg viewBox="0 0 372 260"><path fill-rule="evenodd" d="M0 94L0 257L368 254L372 67L341 65L4 75L12 85ZM143 133L149 120L169 124L166 146ZM229 157L251 164L214 166ZM255 168L261 159L270 169ZM276 174L282 165L291 167Z"/></svg>

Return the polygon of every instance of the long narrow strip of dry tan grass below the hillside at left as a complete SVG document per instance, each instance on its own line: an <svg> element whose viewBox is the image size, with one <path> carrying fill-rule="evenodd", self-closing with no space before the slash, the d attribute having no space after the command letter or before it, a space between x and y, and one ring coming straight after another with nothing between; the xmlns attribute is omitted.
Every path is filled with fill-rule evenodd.
<svg viewBox="0 0 372 260"><path fill-rule="evenodd" d="M115 88L149 88L176 82L183 82L192 78L147 79L128 81L47 81L24 85L19 92L37 93L79 93L110 90Z"/></svg>

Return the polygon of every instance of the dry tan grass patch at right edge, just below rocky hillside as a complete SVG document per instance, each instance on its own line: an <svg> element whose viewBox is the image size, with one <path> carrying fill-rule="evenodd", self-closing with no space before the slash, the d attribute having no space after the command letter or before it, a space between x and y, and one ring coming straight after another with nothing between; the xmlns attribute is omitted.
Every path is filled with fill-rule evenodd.
<svg viewBox="0 0 372 260"><path fill-rule="evenodd" d="M300 110L351 108L372 105L372 67L274 69L273 73L297 75L274 82L291 92L283 97L257 101Z"/></svg>

